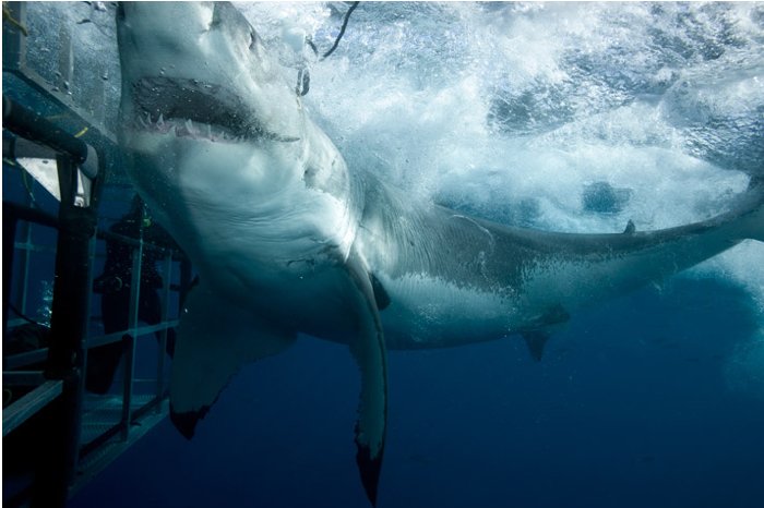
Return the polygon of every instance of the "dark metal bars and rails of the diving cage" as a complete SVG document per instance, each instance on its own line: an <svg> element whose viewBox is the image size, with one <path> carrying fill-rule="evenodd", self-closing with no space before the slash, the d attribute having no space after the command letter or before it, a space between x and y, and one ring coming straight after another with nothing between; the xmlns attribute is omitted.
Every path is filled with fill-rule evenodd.
<svg viewBox="0 0 764 508"><path fill-rule="evenodd" d="M19 26L26 24L25 2L8 2L9 15L20 22ZM26 310L26 295L32 283L28 268L32 261L24 258L29 256L37 247L33 245L34 234L28 223L44 225L59 229L56 246L56 285L53 287L52 327L53 338L49 348L38 349L32 352L14 354L3 358L3 377L9 386L22 384L32 387L26 397L16 400L3 410L3 436L13 438L14 428L24 426L34 414L45 414L45 420L53 422L52 432L39 436L43 442L35 446L46 449L46 457L36 471L33 488L24 492L28 497L32 494L33 507L64 506L65 499L71 493L84 485L89 479L103 470L111 460L119 456L127 447L142 437L152 426L167 415L166 390L166 359L164 358L167 342L167 330L177 326L178 320L170 318L170 291L174 256L175 261L181 261L181 287L190 281L190 264L183 257L178 257L171 250L165 249L165 286L162 322L152 326L139 326L138 322L138 294L140 283L133 285L135 297L132 300L130 326L128 330L102 336L92 336L89 330L91 299L94 279L94 259L96 258L95 210L98 204L98 194L105 177L106 157L110 157L108 167L109 178L114 182L124 181L120 172L121 166L117 157L116 136L105 126L104 118L99 111L88 113L86 107L74 102L72 97L57 89L56 85L47 83L26 61L26 39L21 28L3 23L3 76L8 78L3 83L3 92L8 90L14 99L20 101L41 101L49 109L62 109L67 117L75 119L74 124L84 125L82 138L72 136L57 124L47 121L34 110L25 110L24 105L5 100L3 97L3 129L14 130L17 135L28 137L35 143L44 143L52 146L59 154L59 182L67 189L60 189L61 206L59 216L52 217L40 214L29 206L14 205L3 201L3 302L7 304L10 295L9 282L15 276L19 286L17 293L22 295L22 306ZM62 31L65 29L62 27ZM58 48L57 61L65 70L71 68L73 58L71 44L67 43L64 34L63 43ZM56 48L53 48L56 49ZM56 53L53 53L56 55ZM32 93L29 93L32 90ZM25 98L26 97L26 98ZM28 97L34 97L29 99ZM97 100L97 97L93 98ZM102 99L103 101L103 99ZM7 106L12 107L7 107ZM45 107L43 108L45 109ZM7 111L14 110L13 118L5 116ZM98 118L96 118L98 117ZM65 122L63 122L65 123ZM71 122L70 122L71 123ZM77 131L80 126L76 128ZM73 132L77 132L73 131ZM87 144L83 143L87 141ZM92 162L97 154L97 168L82 167L83 161ZM5 154L4 154L5 155ZM95 198L87 202L76 202L72 196L76 194L77 180L82 179L77 173L84 173L95 183L92 195ZM38 186L37 189L41 189ZM34 191L33 191L34 192ZM65 201L65 203L64 203ZM84 206L83 206L84 205ZM11 213L9 214L8 210ZM19 222L22 221L20 225ZM86 228L84 233L79 228L83 221L92 223L93 228ZM26 232L24 229L26 228ZM15 242L16 235L20 241ZM118 235L102 231L97 238L114 239ZM10 239L10 241L9 241ZM122 238L130 245L140 249L141 253L146 249L157 249L142 241ZM132 243L134 242L134 243ZM15 257L19 250L21 255ZM138 268L133 270L133 278L140 281L140 258L136 256ZM75 309L72 310L72 304ZM3 326L9 326L8 306L3 305ZM14 323L15 325L15 323ZM134 383L135 341L140 336L160 331L160 347L157 358L156 392L146 398L132 391ZM114 397L91 397L87 403L84 401L84 368L87 362L86 350L88 348L122 340L122 336L129 332L131 336L129 368L126 368L126 391L119 406L110 408ZM129 354L130 355L130 354ZM39 371L33 372L7 372L8 370L24 368L34 363L46 362L45 378ZM28 367L27 367L28 368ZM34 368L34 367L32 367ZM47 379L47 380L46 380ZM91 401L94 401L91 407ZM114 413L121 414L114 425L100 432L94 439L83 443L82 436L85 428L92 423L88 419L95 419L103 408L114 409ZM9 419L7 421L7 419ZM141 423L141 425L135 425ZM91 428L87 427L87 432Z"/></svg>

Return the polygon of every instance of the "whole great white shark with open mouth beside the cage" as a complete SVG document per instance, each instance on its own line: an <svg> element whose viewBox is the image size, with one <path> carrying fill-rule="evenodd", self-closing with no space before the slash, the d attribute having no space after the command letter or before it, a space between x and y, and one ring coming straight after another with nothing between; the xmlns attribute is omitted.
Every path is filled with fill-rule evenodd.
<svg viewBox="0 0 764 508"><path fill-rule="evenodd" d="M171 418L188 437L246 363L298 335L349 347L361 373L355 439L375 504L389 349L525 337L659 281L744 239L764 241L764 190L701 222L571 234L419 203L349 169L229 3L122 2L119 140L155 218L200 285L181 316Z"/></svg>

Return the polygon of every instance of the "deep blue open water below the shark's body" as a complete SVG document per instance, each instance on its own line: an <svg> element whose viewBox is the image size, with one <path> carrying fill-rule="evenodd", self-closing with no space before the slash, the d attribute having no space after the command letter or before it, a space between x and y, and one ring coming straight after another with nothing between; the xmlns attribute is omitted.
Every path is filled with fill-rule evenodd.
<svg viewBox="0 0 764 508"><path fill-rule="evenodd" d="M390 356L379 506L740 507L764 499L764 400L725 359L745 295L679 279L574 318L534 363L517 339ZM192 442L163 422L72 507L366 506L344 348L247 367Z"/></svg>

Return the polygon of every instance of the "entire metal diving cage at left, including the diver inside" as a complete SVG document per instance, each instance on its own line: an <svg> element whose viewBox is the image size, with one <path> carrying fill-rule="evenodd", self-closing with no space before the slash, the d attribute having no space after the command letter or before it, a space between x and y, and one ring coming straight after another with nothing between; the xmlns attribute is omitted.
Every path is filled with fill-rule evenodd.
<svg viewBox="0 0 764 508"><path fill-rule="evenodd" d="M168 412L191 266L122 168L114 9L3 2L8 507L64 506Z"/></svg>

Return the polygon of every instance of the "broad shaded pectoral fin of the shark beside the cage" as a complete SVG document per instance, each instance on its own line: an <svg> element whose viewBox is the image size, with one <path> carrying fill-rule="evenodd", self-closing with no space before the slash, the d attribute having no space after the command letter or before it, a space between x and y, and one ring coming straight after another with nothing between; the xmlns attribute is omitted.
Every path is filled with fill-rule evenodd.
<svg viewBox="0 0 764 508"><path fill-rule="evenodd" d="M184 310L172 359L170 419L190 439L239 368L288 348L295 335L219 300L203 280L189 293Z"/></svg>

